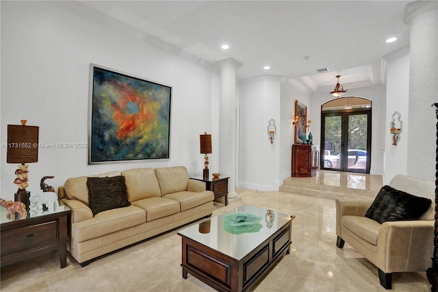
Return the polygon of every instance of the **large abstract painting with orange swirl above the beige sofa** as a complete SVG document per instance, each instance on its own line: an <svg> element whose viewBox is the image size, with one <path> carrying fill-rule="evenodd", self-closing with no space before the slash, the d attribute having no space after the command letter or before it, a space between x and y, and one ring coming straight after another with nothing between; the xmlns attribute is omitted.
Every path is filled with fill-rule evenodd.
<svg viewBox="0 0 438 292"><path fill-rule="evenodd" d="M169 158L172 87L90 64L88 165Z"/></svg>

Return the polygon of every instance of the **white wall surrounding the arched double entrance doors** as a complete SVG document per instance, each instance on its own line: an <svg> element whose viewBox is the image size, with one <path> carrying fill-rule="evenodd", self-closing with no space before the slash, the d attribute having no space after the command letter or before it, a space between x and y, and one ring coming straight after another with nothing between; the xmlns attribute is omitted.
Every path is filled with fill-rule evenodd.
<svg viewBox="0 0 438 292"><path fill-rule="evenodd" d="M383 86L368 86L361 88L348 89L345 97L363 97L372 101L372 125L371 125L371 174L383 174L383 140L382 140L382 117L383 107ZM321 105L333 99L329 93L314 93L311 95L311 132L313 134L313 144L321 144Z"/></svg>

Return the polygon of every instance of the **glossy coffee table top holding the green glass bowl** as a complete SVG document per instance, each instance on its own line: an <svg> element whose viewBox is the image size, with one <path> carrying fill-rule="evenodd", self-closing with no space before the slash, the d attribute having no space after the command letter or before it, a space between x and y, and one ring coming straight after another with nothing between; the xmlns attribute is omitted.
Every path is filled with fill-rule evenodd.
<svg viewBox="0 0 438 292"><path fill-rule="evenodd" d="M294 215L243 205L196 223L178 234L241 260L292 219Z"/></svg>

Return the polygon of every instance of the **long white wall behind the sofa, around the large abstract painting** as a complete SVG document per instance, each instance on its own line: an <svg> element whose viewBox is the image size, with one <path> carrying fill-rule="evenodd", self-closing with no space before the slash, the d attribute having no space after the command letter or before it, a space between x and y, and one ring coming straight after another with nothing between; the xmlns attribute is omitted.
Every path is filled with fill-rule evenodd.
<svg viewBox="0 0 438 292"><path fill-rule="evenodd" d="M90 63L172 86L170 159L88 166L87 149L39 149L27 190L38 192L44 175L55 175L46 182L57 188L69 177L133 167L185 165L201 174L199 134L211 133L218 149L218 72L50 2L1 2L1 143L6 125L21 119L40 127L40 143L88 143ZM1 197L13 199L16 165L0 150Z"/></svg>

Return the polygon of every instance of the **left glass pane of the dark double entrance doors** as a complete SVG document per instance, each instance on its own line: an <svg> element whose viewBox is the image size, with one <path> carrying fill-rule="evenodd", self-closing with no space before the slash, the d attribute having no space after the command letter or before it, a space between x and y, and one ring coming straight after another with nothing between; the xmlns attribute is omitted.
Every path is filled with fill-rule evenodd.
<svg viewBox="0 0 438 292"><path fill-rule="evenodd" d="M324 117L323 168L341 169L342 116Z"/></svg>

